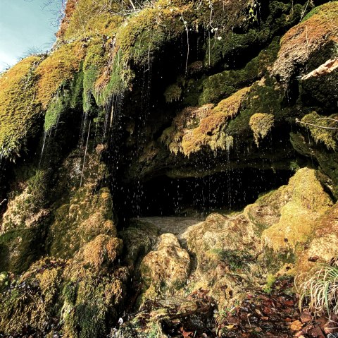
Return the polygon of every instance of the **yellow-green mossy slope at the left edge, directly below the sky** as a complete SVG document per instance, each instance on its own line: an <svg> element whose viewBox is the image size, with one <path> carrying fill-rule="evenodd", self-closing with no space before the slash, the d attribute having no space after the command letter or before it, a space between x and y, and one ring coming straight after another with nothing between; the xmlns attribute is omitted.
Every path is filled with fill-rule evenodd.
<svg viewBox="0 0 338 338"><path fill-rule="evenodd" d="M0 76L0 156L17 155L39 114L35 68L41 61L30 56Z"/></svg>

